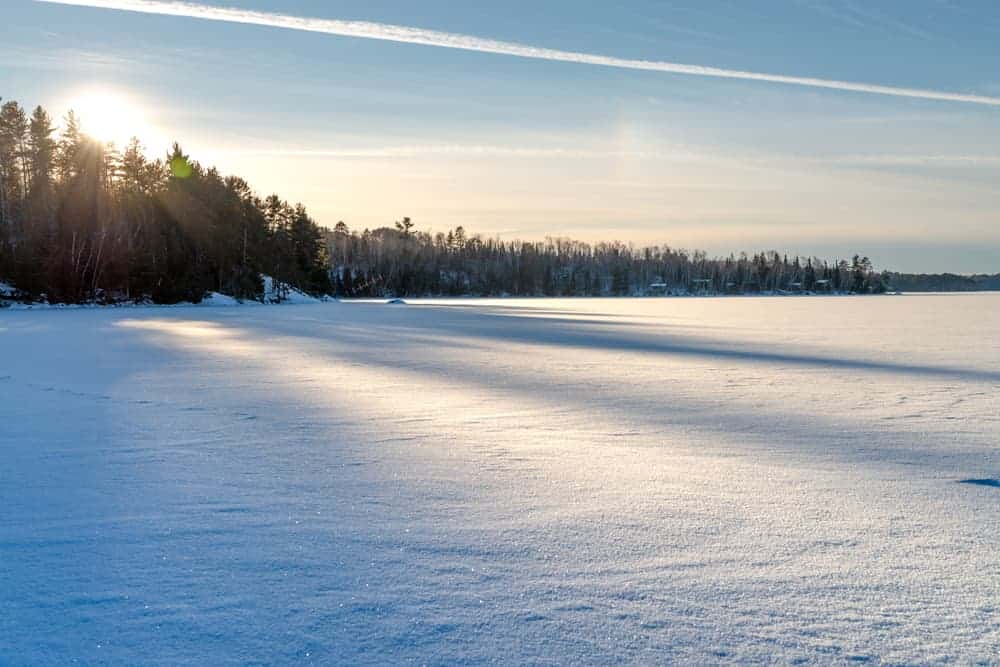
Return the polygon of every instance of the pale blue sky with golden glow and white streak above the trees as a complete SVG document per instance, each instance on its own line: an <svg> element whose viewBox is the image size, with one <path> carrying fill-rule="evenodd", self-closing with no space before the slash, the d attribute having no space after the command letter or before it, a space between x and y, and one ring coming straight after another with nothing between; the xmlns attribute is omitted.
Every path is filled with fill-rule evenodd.
<svg viewBox="0 0 1000 667"><path fill-rule="evenodd" d="M67 2L3 0L0 96L327 226L1000 272L992 0Z"/></svg>

